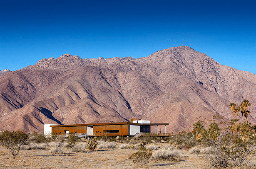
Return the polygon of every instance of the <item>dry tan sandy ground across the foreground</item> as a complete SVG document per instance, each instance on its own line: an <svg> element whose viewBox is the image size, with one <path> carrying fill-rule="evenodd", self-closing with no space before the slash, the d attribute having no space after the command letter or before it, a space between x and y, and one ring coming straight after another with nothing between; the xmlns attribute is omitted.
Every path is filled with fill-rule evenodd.
<svg viewBox="0 0 256 169"><path fill-rule="evenodd" d="M163 145L164 146L164 145ZM13 158L0 147L0 169L206 169L204 155L179 150L181 157L175 161L151 161L147 167L134 164L129 159L138 150L114 149L93 152L72 152L63 148L64 154L52 154L46 150L20 150Z"/></svg>

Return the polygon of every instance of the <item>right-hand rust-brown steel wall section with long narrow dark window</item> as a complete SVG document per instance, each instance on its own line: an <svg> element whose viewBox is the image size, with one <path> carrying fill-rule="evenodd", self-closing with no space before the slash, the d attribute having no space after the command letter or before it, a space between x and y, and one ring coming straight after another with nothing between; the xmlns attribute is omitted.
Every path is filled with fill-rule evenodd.
<svg viewBox="0 0 256 169"><path fill-rule="evenodd" d="M117 133L118 131L118 133ZM111 133L113 132L113 133ZM116 125L97 125L93 126L93 135L112 135L121 136L129 135L129 124L116 124Z"/></svg>

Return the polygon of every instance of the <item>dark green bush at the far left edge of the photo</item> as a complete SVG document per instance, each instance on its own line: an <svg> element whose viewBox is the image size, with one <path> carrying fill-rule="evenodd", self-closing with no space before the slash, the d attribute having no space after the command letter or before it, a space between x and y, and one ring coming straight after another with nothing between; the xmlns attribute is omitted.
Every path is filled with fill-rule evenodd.
<svg viewBox="0 0 256 169"><path fill-rule="evenodd" d="M3 131L0 134L0 143L2 146L5 146L10 153L15 157L22 145L25 144L28 138L27 133L17 130L17 131Z"/></svg>

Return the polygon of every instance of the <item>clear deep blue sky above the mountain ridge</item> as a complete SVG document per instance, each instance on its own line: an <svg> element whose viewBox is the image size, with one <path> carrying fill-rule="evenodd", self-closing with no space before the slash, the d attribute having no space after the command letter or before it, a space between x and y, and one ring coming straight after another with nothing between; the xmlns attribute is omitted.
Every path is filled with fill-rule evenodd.
<svg viewBox="0 0 256 169"><path fill-rule="evenodd" d="M256 74L256 0L0 0L0 70L181 45Z"/></svg>

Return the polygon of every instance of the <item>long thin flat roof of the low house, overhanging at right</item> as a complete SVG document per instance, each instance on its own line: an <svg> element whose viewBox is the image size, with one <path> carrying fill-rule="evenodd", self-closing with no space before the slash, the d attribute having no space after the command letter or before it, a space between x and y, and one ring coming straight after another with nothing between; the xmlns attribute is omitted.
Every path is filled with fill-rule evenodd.
<svg viewBox="0 0 256 169"><path fill-rule="evenodd" d="M90 124L68 124L68 125L54 125L50 127L72 127L72 126L106 126L106 125L137 125L137 126L168 126L169 123L131 123L131 122L121 122L121 123L90 123Z"/></svg>

